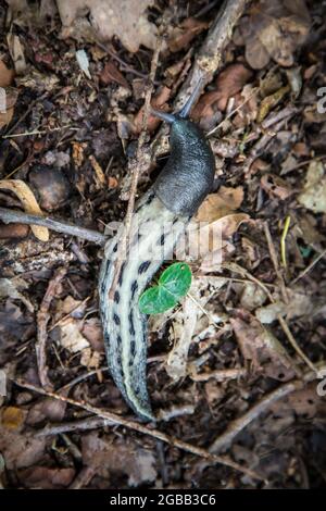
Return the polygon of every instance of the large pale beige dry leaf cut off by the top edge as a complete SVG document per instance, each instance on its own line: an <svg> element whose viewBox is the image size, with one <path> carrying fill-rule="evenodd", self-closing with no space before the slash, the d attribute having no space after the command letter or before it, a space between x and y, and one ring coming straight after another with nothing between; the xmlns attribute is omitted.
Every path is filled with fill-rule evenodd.
<svg viewBox="0 0 326 511"><path fill-rule="evenodd" d="M116 36L131 52L138 51L140 45L153 49L156 27L146 14L152 3L152 0L57 0L62 37L110 40Z"/></svg>

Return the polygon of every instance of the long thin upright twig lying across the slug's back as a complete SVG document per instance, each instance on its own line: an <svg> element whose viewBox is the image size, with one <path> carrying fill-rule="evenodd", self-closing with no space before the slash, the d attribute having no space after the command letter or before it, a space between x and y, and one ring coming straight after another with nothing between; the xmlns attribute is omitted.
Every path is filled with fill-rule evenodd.
<svg viewBox="0 0 326 511"><path fill-rule="evenodd" d="M135 201L136 201L136 192L137 192L137 185L138 185L138 178L140 175L140 161L141 161L141 151L142 147L146 141L146 135L147 135L147 124L148 124L148 117L149 117L149 112L150 112L150 103L151 103L151 97L153 92L153 80L155 77L156 68L158 68L158 63L159 63L159 54L161 51L161 46L162 46L162 36L159 37L156 48L153 53L152 62L151 62L151 71L150 71L150 76L149 76L149 82L147 84L146 92L145 92L145 104L143 104L143 113L142 113L142 122L141 122L141 132L138 138L138 145L137 145L137 151L136 151L136 159L130 165L131 170L131 184L130 184L130 196L129 196L129 201L128 201L128 208L126 212L126 220L125 220L125 225L124 229L122 233L122 236L118 240L118 247L117 247L117 252L121 251L123 247L126 246L130 227L131 227L131 219L133 219L133 213L134 213L134 208L135 208ZM120 277L120 272L122 269L123 264L123 258L117 258L115 262L115 267L114 267L114 273L113 273L113 278L112 278L112 285L111 289L109 291L109 298L112 300L114 297L115 288L117 285L117 281Z"/></svg>

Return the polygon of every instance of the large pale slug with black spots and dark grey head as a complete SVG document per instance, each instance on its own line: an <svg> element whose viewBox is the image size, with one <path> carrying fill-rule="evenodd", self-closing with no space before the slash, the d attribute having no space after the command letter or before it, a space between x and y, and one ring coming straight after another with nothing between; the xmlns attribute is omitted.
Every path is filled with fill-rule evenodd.
<svg viewBox="0 0 326 511"><path fill-rule="evenodd" d="M129 249L112 299L109 292L121 232L106 242L100 271L100 312L109 370L126 402L146 421L155 417L146 378L147 315L140 312L138 300L164 260L172 257L177 238L211 191L215 173L213 152L204 134L187 119L198 89L199 86L178 114L152 111L171 124L171 154L136 207ZM166 225L174 228L166 233Z"/></svg>

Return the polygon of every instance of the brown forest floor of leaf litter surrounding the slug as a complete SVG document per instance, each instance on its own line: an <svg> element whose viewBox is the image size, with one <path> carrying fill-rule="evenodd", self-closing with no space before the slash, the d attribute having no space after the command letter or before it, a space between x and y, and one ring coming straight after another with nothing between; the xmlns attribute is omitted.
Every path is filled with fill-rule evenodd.
<svg viewBox="0 0 326 511"><path fill-rule="evenodd" d="M57 3L0 0L0 209L103 234L126 214L155 30L152 104L172 111L222 2L134 1L120 21L111 2L98 34L104 0ZM197 220L223 242L188 261L191 296L150 319L155 429L106 370L102 248L0 221L0 487L325 487L323 3L247 2L192 109L216 162ZM137 198L166 161L160 126Z"/></svg>

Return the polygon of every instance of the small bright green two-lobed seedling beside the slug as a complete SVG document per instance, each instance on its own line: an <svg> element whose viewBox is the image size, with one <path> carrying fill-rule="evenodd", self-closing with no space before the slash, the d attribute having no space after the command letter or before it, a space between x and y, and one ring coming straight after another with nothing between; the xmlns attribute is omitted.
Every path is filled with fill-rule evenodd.
<svg viewBox="0 0 326 511"><path fill-rule="evenodd" d="M191 270L186 263L171 264L152 286L139 298L139 309L143 314L160 314L175 307L187 295L191 285Z"/></svg>

